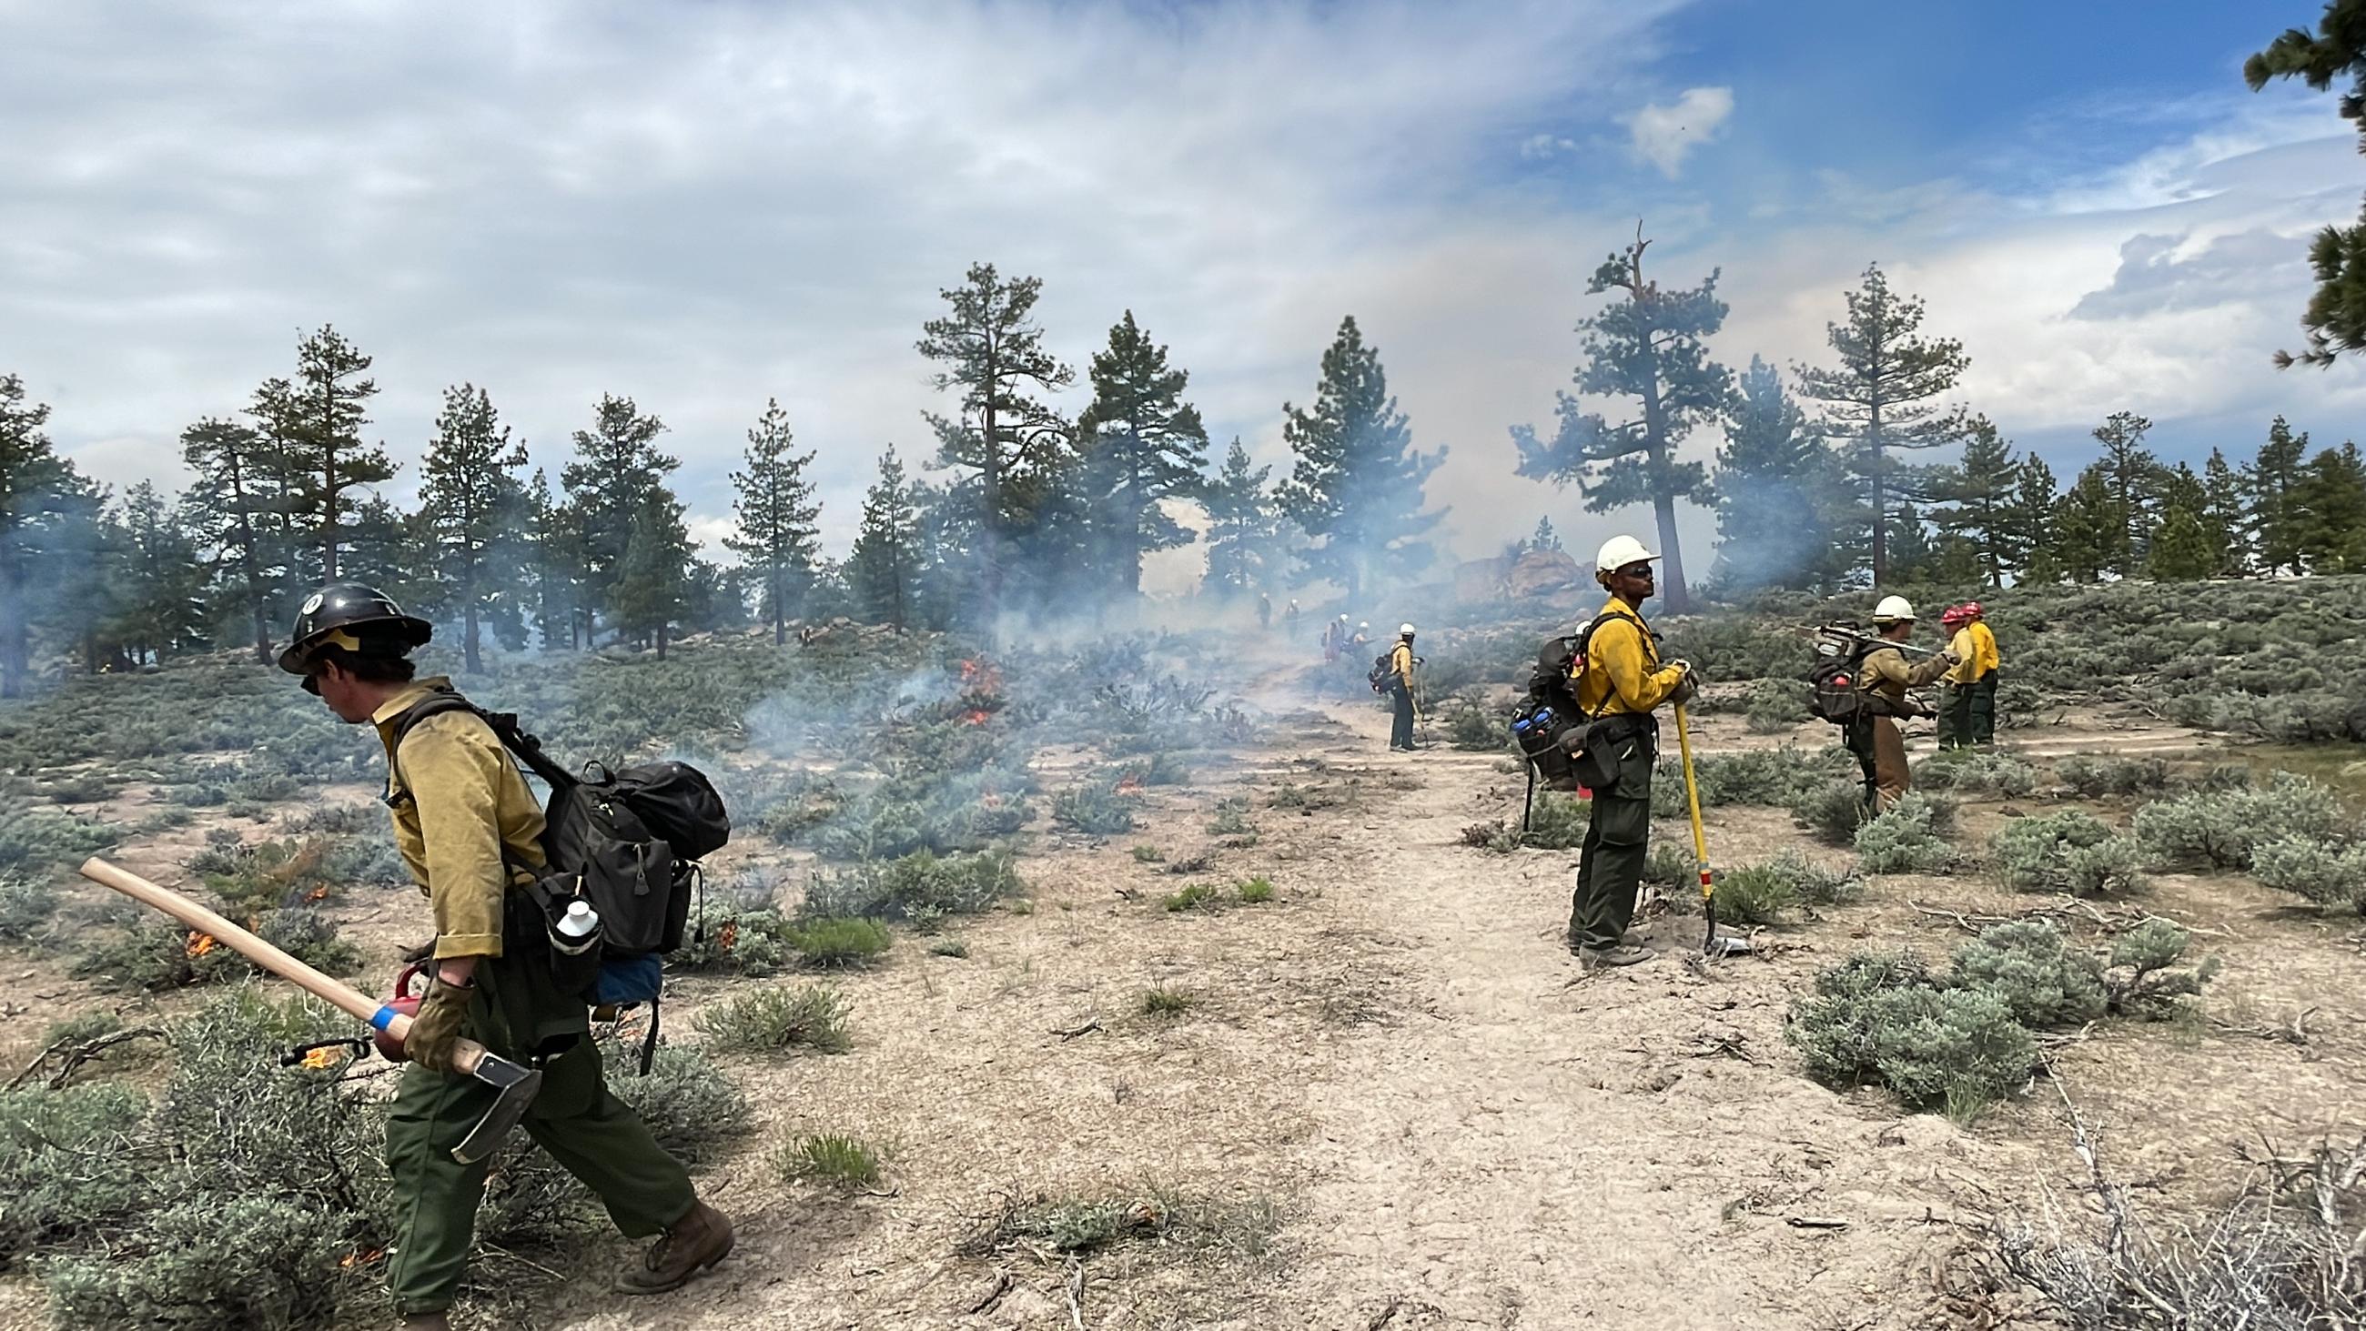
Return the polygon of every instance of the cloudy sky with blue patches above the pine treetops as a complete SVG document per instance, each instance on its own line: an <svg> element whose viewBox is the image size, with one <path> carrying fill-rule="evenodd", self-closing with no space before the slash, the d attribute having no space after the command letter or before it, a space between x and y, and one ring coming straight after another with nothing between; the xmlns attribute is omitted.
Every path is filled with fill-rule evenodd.
<svg viewBox="0 0 2366 1331"><path fill-rule="evenodd" d="M636 397L710 539L778 397L842 548L878 449L927 452L935 291L994 260L1043 277L1079 366L1131 307L1218 449L1278 463L1356 314L1481 556L1540 513L1628 522L1514 480L1507 428L1550 421L1642 215L1661 277L1722 267L1737 369L1822 359L1879 260L2058 473L2118 409L2172 456L2248 454L2274 411L2338 442L2361 371L2267 357L2366 163L2331 97L2238 78L2316 9L0 0L0 371L95 475L177 482L180 428L334 322L402 459L445 383L551 470Z"/></svg>

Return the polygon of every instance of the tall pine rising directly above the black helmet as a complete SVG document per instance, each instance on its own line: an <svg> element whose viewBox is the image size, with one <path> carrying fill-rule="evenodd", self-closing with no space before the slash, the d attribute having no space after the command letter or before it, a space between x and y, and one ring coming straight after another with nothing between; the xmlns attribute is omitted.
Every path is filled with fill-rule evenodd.
<svg viewBox="0 0 2366 1331"><path fill-rule="evenodd" d="M322 324L296 345L296 378L274 378L256 395L253 411L284 454L289 537L308 544L308 572L319 582L343 577L348 492L395 475L383 447L362 444L362 411L379 392L367 371L369 357Z"/></svg>

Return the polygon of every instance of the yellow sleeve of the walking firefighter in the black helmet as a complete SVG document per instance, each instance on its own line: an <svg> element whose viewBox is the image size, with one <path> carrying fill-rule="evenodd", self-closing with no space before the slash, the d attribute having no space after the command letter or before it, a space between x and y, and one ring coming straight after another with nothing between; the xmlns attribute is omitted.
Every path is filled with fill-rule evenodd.
<svg viewBox="0 0 2366 1331"><path fill-rule="evenodd" d="M438 957L499 957L502 868L499 790L509 754L466 712L428 716L402 738L402 785L426 842L428 910Z"/></svg>

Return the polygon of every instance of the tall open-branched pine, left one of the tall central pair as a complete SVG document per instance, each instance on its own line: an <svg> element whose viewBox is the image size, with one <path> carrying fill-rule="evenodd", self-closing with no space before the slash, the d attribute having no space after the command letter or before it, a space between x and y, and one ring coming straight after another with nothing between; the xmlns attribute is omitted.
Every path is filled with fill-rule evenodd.
<svg viewBox="0 0 2366 1331"><path fill-rule="evenodd" d="M927 414L927 423L937 433L937 463L975 485L984 624L994 622L1001 598L1001 546L1024 520L1013 506L1024 494L1013 494L1010 482L1029 459L1067 449L1067 426L1034 397L1077 381L1077 371L1043 350L1043 329L1034 322L1041 293L1041 277L1003 281L991 262L977 262L965 286L939 291L951 312L920 326L920 355L944 366L930 383L937 392L958 392L956 411Z"/></svg>

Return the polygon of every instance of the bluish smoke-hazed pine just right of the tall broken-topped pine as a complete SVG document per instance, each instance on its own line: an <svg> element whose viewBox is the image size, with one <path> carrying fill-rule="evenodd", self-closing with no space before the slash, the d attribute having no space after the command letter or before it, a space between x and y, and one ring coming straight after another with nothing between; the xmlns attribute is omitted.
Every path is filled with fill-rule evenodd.
<svg viewBox="0 0 2366 1331"><path fill-rule="evenodd" d="M1782 371L1751 357L1718 449L1718 563L1725 589L1834 589L1855 567L1850 506L1838 459L1808 430Z"/></svg>

